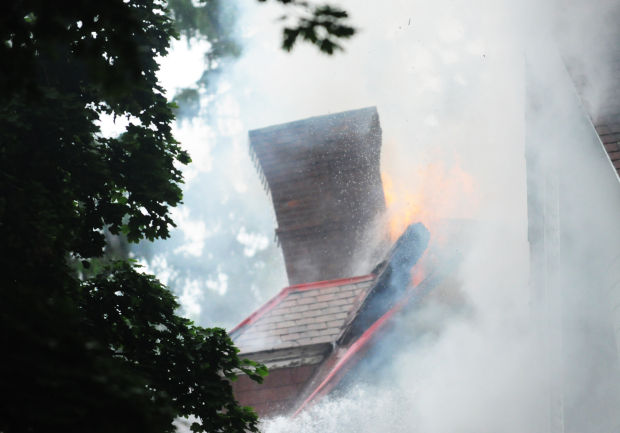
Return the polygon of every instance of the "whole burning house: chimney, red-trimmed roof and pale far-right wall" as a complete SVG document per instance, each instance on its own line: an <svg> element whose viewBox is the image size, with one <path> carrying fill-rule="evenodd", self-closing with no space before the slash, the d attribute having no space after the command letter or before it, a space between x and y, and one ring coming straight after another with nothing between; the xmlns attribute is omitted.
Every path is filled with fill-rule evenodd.
<svg viewBox="0 0 620 433"><path fill-rule="evenodd" d="M618 99L608 88L602 108L584 104L578 65L550 56L555 47L539 48L528 51L524 68L522 143L523 296L545 378L535 385L544 396L537 431L613 432L620 427ZM609 73L617 75L614 64ZM291 285L231 331L242 356L270 369L263 385L241 377L233 388L261 415L294 414L357 380L369 354L398 338L387 330L399 313L432 296L458 304L450 269L459 254L436 248L436 228L421 224L390 240L376 109L252 131L250 147L273 199ZM442 235L456 243L462 226L444 224Z"/></svg>

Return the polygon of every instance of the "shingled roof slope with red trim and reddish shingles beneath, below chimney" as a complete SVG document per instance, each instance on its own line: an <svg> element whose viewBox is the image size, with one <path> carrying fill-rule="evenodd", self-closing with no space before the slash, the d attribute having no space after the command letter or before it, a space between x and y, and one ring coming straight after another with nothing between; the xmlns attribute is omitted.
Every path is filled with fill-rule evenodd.
<svg viewBox="0 0 620 433"><path fill-rule="evenodd" d="M242 404L261 415L294 409L374 279L366 275L287 287L231 331L242 356L270 369L263 385L245 376L233 383Z"/></svg>

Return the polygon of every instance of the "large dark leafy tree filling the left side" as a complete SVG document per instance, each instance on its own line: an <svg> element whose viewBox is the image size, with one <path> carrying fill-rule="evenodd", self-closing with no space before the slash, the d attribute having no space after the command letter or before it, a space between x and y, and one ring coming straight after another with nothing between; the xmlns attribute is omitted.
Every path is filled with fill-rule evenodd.
<svg viewBox="0 0 620 433"><path fill-rule="evenodd" d="M155 74L176 35L157 0L22 0L0 16L2 432L168 432L187 415L196 431L256 429L229 380L263 366L127 262L93 271L106 230L137 242L174 225L189 156ZM103 137L102 115L125 133Z"/></svg>

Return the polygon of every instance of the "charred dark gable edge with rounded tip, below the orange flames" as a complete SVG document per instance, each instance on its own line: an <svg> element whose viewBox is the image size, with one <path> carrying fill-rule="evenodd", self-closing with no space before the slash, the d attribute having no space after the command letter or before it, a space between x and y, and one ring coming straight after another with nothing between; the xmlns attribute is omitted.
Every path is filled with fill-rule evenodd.
<svg viewBox="0 0 620 433"><path fill-rule="evenodd" d="M356 340L402 298L411 282L411 268L426 250L429 238L430 234L424 224L416 223L407 227L390 250L387 264L383 266L375 285L342 335L340 344L347 345Z"/></svg>

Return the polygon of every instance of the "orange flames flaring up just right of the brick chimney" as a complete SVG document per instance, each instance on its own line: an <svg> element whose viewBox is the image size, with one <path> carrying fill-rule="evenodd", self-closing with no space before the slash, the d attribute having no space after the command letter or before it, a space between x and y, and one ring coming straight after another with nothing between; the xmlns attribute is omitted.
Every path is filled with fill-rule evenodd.
<svg viewBox="0 0 620 433"><path fill-rule="evenodd" d="M390 237L396 240L414 222L423 223L433 236L437 222L446 218L471 218L476 207L474 180L458 166L441 163L414 170L397 181L381 173Z"/></svg>

